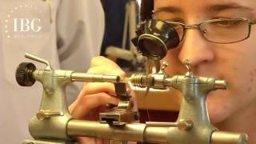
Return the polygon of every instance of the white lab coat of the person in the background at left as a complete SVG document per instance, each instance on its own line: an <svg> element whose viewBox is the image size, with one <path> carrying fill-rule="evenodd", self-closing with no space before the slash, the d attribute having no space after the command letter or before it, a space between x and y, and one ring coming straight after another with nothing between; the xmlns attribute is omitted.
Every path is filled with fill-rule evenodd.
<svg viewBox="0 0 256 144"><path fill-rule="evenodd" d="M17 144L30 138L28 122L37 112L42 97L39 82L22 87L15 81L18 64L31 62L24 58L26 52L45 58L55 69L84 72L90 66L90 58L100 52L104 29L100 1L50 2L51 13L47 2L42 0L0 0L0 143ZM42 29L14 31L14 18L39 18ZM45 67L38 62L34 64ZM71 89L69 97L77 96L78 86Z"/></svg>

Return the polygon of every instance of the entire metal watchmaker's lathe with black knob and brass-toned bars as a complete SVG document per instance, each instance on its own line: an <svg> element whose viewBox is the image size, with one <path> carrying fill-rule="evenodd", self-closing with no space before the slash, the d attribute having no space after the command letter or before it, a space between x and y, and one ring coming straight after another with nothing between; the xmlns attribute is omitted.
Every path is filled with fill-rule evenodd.
<svg viewBox="0 0 256 144"><path fill-rule="evenodd" d="M70 70L54 70L50 63L32 54L26 58L46 64L38 70L33 63L18 66L16 78L21 86L32 86L35 81L43 86L42 102L38 113L30 120L29 130L34 140L25 144L60 144L74 142L76 137L107 138L111 142L156 142L168 144L244 144L246 134L218 131L211 125L206 109L206 96L211 90L226 89L226 82L215 78L196 77L190 70L190 62L184 62L184 75L168 76L162 64L161 70L151 74L133 74L130 78L118 75L77 73ZM72 118L66 104L65 87L71 82L113 82L120 98L112 112L100 114L98 122ZM133 86L163 89L171 86L182 92L184 98L177 122L138 123L126 83ZM114 107L108 105L109 108Z"/></svg>

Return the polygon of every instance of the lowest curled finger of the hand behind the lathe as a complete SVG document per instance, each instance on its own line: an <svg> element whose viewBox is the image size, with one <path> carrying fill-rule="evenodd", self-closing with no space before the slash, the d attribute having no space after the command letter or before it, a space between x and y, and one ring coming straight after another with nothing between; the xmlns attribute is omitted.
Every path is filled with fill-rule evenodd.
<svg viewBox="0 0 256 144"><path fill-rule="evenodd" d="M71 104L70 114L72 114L74 118L84 118L86 115L90 114L90 110L105 106L107 103L117 105L118 98L111 97L106 93L84 95Z"/></svg>

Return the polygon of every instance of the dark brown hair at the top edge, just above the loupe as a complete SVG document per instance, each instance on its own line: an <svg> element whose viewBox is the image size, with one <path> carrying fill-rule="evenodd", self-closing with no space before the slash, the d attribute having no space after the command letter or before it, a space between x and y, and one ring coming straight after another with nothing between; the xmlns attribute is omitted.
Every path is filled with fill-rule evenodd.
<svg viewBox="0 0 256 144"><path fill-rule="evenodd" d="M151 19L154 10L154 0L142 0L141 4L141 21Z"/></svg>

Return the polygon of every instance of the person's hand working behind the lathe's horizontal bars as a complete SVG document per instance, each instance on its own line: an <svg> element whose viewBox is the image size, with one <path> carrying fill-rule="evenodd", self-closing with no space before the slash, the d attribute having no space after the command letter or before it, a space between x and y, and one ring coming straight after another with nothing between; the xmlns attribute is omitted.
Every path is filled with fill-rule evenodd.
<svg viewBox="0 0 256 144"><path fill-rule="evenodd" d="M92 58L91 67L87 73L125 76L125 72L116 63L104 57ZM98 121L99 113L107 111L105 108L107 103L118 104L114 83L86 82L78 98L70 105L69 110L76 119ZM78 141L80 143L102 143L96 138L78 138Z"/></svg>

